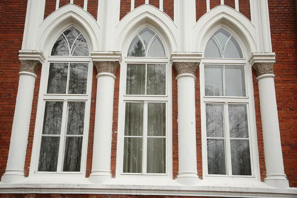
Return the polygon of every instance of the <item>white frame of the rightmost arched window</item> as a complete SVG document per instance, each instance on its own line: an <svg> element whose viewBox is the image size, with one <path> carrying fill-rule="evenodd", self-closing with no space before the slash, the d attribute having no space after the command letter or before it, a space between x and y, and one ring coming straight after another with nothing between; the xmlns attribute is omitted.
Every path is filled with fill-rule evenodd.
<svg viewBox="0 0 297 198"><path fill-rule="evenodd" d="M213 31L208 40L211 38ZM225 28L225 27L223 27ZM242 46L237 35L229 31L238 41L242 52L243 58L204 58L202 57L199 72L200 72L200 105L201 105L201 138L202 138L202 174L203 179L224 179L224 180L258 180L260 181L259 172L259 159L258 159L258 146L257 146L257 134L255 125L255 108L253 99L253 83L252 83L252 71L251 65L249 64L247 58L245 57L245 46ZM207 40L207 41L208 41ZM207 42L206 42L207 44ZM205 47L204 47L205 49ZM246 97L230 97L230 96L205 96L205 76L204 68L207 65L243 65L245 71L245 86L246 86ZM224 76L225 78L225 76ZM223 82L225 84L225 82ZM206 136L206 103L218 103L224 104L224 130L225 130L225 160L226 160L226 175L213 175L208 174L208 164L207 164L207 136ZM250 164L251 164L251 175L232 175L231 166L231 151L230 151L230 137L229 137L229 117L228 117L228 104L246 104L247 105L247 123L248 123L248 139L249 139L249 153L250 153ZM226 110L227 109L227 110Z"/></svg>

